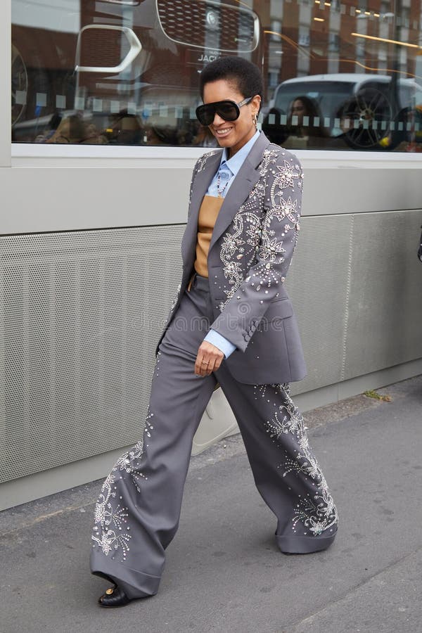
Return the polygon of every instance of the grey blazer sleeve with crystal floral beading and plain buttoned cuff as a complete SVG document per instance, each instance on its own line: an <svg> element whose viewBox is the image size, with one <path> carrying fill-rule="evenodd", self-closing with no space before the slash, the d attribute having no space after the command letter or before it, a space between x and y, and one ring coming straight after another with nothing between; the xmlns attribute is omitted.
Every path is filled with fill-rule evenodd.
<svg viewBox="0 0 422 633"><path fill-rule="evenodd" d="M270 303L279 298L300 228L303 173L298 158L280 151L268 170L255 263L211 325L242 352Z"/></svg>

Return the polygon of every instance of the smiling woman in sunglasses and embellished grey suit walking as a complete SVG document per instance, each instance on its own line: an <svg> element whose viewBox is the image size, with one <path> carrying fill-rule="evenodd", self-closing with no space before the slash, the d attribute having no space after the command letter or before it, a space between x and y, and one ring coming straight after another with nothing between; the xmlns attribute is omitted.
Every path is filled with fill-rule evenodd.
<svg viewBox="0 0 422 633"><path fill-rule="evenodd" d="M96 504L91 571L122 606L158 591L177 531L193 435L215 385L238 421L258 490L285 554L326 549L337 511L288 382L305 375L283 281L295 248L302 172L257 131L262 77L220 58L200 77L197 110L223 151L191 182L179 293L158 345L142 439L113 466Z"/></svg>

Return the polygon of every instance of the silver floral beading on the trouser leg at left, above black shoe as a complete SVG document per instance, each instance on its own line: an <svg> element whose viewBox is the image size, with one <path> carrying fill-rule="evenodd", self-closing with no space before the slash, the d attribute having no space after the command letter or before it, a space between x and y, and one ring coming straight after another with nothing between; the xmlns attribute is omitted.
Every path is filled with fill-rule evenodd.
<svg viewBox="0 0 422 633"><path fill-rule="evenodd" d="M154 428L151 423L151 418L153 418L153 414L146 416L145 429L143 431L143 435L146 435L146 437L151 437L151 430ZM117 459L106 480L103 482L94 511L94 533L91 537L92 540L101 547L103 554L106 556L108 556L110 552L120 550L122 562L126 560L132 535L129 534L130 525L127 525L127 523L129 523L129 510L120 504L122 497L119 497L117 504L115 503L117 494L116 480L120 471L125 471L131 476L136 490L140 492L139 482L141 479L148 480L148 477L139 470L142 456L143 437L141 437L141 440L139 440L132 449Z"/></svg>

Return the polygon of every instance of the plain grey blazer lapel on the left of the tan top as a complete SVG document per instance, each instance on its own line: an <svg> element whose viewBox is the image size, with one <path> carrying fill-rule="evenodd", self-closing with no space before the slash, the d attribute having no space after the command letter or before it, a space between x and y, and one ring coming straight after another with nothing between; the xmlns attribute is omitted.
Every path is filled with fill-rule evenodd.
<svg viewBox="0 0 422 633"><path fill-rule="evenodd" d="M189 205L189 219L186 224L183 241L181 243L181 255L183 257L184 264L187 267L190 267L190 265L193 264L190 260L192 259L196 248L200 205L202 204L203 197L205 196L205 193L207 193L207 189L210 186L215 172L217 172L221 158L222 151L217 149L217 153L208 158L205 168L198 172L195 177L191 203Z"/></svg>

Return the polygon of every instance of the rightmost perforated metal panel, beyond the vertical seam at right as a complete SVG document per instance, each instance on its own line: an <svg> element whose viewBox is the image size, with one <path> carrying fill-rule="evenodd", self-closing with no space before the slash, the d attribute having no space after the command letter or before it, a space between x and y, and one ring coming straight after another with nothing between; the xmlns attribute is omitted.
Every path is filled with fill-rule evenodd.
<svg viewBox="0 0 422 633"><path fill-rule="evenodd" d="M422 213L354 218L342 380L422 357Z"/></svg>

